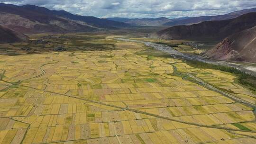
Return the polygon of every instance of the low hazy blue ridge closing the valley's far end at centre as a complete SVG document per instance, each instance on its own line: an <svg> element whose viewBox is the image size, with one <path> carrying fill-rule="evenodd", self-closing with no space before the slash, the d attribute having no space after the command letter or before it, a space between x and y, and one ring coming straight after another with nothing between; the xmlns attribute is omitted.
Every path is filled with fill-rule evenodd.
<svg viewBox="0 0 256 144"><path fill-rule="evenodd" d="M113 21L124 22L133 26L162 26L167 22L179 19L169 18L106 18Z"/></svg>

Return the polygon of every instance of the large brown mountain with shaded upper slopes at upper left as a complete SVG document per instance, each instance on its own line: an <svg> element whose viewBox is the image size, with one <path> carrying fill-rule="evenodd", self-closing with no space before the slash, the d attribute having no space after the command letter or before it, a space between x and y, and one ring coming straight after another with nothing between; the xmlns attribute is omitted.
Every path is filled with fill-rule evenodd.
<svg viewBox="0 0 256 144"><path fill-rule="evenodd" d="M46 8L37 6L35 8L38 9L1 3L0 25L21 33L65 33L95 29L40 11L40 9Z"/></svg>

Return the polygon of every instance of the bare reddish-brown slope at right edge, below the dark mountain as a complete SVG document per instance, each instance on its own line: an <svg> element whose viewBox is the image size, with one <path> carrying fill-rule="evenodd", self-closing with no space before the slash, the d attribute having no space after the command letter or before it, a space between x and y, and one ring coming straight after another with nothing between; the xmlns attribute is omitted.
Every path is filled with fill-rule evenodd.
<svg viewBox="0 0 256 144"><path fill-rule="evenodd" d="M219 60L256 63L256 27L249 28L225 38L204 55Z"/></svg>

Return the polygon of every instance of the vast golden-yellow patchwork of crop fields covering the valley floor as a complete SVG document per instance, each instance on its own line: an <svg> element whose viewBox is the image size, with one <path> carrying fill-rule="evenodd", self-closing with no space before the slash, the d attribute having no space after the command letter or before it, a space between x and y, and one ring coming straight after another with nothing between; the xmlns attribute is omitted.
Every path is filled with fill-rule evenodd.
<svg viewBox="0 0 256 144"><path fill-rule="evenodd" d="M0 144L256 143L252 107L186 76L255 105L232 74L116 37L33 35L0 45Z"/></svg>

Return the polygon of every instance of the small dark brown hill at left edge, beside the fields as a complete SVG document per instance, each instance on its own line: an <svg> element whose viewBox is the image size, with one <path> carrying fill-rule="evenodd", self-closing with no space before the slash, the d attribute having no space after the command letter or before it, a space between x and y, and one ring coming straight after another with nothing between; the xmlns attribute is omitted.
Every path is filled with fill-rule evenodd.
<svg viewBox="0 0 256 144"><path fill-rule="evenodd" d="M27 39L28 37L23 34L16 33L8 28L0 26L0 43L19 42Z"/></svg>

